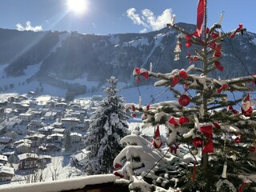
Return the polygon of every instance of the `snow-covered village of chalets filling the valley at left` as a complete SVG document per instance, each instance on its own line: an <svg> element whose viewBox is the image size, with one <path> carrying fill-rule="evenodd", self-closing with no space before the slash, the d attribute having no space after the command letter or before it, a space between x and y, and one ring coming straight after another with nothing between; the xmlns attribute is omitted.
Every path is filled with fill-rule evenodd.
<svg viewBox="0 0 256 192"><path fill-rule="evenodd" d="M37 98L33 91L2 100L0 185L18 179L22 183L45 181L42 172L50 163L56 166L50 179L57 180L58 159L66 154L66 164L82 166L89 118L101 100L102 95L95 95L65 102L58 97Z"/></svg>

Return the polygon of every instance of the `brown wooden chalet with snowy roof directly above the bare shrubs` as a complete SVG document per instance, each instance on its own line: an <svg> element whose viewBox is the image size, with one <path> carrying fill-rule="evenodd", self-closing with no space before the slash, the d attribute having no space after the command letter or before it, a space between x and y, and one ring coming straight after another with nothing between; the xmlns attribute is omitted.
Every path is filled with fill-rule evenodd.
<svg viewBox="0 0 256 192"><path fill-rule="evenodd" d="M19 168L20 169L30 169L38 167L38 155L37 154L19 154Z"/></svg>

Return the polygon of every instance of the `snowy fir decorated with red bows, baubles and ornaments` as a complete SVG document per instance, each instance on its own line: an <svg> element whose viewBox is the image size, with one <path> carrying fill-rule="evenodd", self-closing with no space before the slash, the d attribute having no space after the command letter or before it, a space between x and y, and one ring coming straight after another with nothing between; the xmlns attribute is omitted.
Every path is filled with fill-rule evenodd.
<svg viewBox="0 0 256 192"><path fill-rule="evenodd" d="M208 27L206 8L207 0L199 0L195 32L176 25L174 17L167 24L170 31L178 31L175 60L181 51L188 53L184 69L166 74L154 73L151 66L134 69L138 83L139 78L156 78L154 86L166 86L177 101L126 105L133 114L142 113L144 127L165 126L167 136L167 147L157 131L154 145L135 134L122 139L127 146L114 159L114 174L129 180L131 191L256 190L256 113L249 94L255 75L230 79L210 75L219 70L225 77L222 43L232 46L232 39L246 34L246 29L240 24L223 32L223 14ZM239 62L238 58L233 64ZM237 92L245 96L236 98ZM241 108L235 110L237 106Z"/></svg>

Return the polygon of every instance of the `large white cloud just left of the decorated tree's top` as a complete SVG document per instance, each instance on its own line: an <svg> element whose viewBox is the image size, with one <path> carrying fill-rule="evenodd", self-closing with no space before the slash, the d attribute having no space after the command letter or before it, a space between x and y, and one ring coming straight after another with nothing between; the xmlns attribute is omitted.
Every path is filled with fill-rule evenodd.
<svg viewBox="0 0 256 192"><path fill-rule="evenodd" d="M141 14L137 14L135 8L130 8L129 10L126 10L126 14L134 24L138 26L142 25L150 30L161 30L167 23L170 23L172 18L171 9L164 10L162 14L157 17L148 9L142 10ZM142 31L145 32L146 29L143 29Z"/></svg>

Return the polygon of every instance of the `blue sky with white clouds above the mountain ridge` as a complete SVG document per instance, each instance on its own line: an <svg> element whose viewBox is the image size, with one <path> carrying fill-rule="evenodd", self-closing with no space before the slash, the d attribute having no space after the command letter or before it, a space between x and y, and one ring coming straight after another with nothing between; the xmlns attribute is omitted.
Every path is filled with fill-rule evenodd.
<svg viewBox="0 0 256 192"><path fill-rule="evenodd" d="M87 9L77 14L68 9L67 1L1 0L0 28L82 34L149 32L165 26L172 14L176 14L176 22L195 24L198 5L198 0L84 0ZM256 33L255 7L255 0L208 0L208 26L218 22L224 11L224 31L243 23L248 31Z"/></svg>

